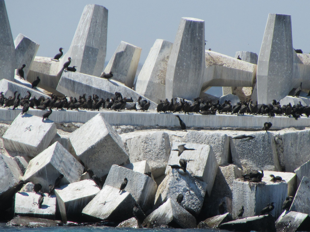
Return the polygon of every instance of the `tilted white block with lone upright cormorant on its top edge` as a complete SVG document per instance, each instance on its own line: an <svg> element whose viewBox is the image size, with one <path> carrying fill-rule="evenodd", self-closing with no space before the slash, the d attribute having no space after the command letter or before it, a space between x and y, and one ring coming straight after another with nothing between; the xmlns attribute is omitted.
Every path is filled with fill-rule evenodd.
<svg viewBox="0 0 310 232"><path fill-rule="evenodd" d="M82 213L92 218L120 223L133 217L135 199L127 191L119 193L119 188L105 185L102 190L84 207Z"/></svg>

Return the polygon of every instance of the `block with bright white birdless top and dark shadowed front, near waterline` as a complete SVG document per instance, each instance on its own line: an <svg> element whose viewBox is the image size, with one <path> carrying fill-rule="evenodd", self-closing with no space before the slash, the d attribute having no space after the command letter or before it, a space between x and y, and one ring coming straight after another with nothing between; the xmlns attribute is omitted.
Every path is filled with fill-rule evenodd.
<svg viewBox="0 0 310 232"><path fill-rule="evenodd" d="M100 192L93 180L83 180L55 189L62 221L79 221L83 208Z"/></svg>

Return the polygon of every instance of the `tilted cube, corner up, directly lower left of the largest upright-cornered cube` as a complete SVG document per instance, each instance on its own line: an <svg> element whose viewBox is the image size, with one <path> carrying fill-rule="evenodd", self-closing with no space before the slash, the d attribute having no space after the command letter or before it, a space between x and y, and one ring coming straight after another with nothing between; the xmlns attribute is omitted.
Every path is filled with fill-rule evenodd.
<svg viewBox="0 0 310 232"><path fill-rule="evenodd" d="M64 147L55 142L29 161L23 180L40 183L42 190L48 192L60 174L64 177L60 185L80 180L84 167Z"/></svg>

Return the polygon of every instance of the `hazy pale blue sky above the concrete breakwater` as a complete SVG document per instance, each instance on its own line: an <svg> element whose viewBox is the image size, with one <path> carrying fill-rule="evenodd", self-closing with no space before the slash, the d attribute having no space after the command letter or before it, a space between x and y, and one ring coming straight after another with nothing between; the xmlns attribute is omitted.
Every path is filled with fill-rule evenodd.
<svg viewBox="0 0 310 232"><path fill-rule="evenodd" d="M181 17L205 20L206 49L228 56L259 54L268 13L292 16L293 46L310 52L310 1L103 1L6 0L13 39L22 33L40 44L37 56L67 52L86 4L108 9L108 61L120 41L141 47L143 64L157 38L174 42Z"/></svg>

